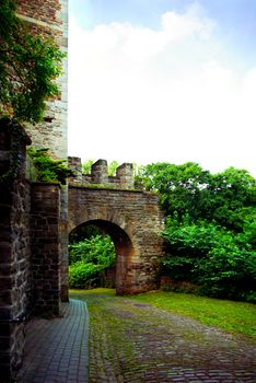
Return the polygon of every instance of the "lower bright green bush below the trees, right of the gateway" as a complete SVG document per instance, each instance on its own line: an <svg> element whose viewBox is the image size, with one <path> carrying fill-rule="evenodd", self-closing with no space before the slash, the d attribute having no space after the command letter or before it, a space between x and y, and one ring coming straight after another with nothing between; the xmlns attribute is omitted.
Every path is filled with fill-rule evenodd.
<svg viewBox="0 0 256 383"><path fill-rule="evenodd" d="M162 272L187 280L208 297L255 301L256 252L246 235L213 223L167 220Z"/></svg>

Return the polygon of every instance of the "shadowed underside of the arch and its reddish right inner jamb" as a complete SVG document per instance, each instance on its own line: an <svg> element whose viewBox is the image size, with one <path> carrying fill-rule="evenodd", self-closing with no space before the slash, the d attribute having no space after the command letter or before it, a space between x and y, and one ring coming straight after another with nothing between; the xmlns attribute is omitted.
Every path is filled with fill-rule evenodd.
<svg viewBox="0 0 256 383"><path fill-rule="evenodd" d="M93 225L101 229L103 234L108 234L115 245L116 249L116 271L115 286L117 294L125 294L130 292L133 282L132 274L128 272L129 265L133 263L136 254L135 247L129 235L117 224L105 220L89 220L74 228L78 231L81 227ZM70 233L70 234L71 234Z"/></svg>

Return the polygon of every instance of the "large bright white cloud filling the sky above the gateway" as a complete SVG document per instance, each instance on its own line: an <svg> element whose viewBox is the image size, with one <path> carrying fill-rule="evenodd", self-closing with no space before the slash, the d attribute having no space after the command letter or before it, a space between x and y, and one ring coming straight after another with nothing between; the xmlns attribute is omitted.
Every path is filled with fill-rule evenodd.
<svg viewBox="0 0 256 383"><path fill-rule="evenodd" d="M198 3L159 31L71 19L70 154L255 172L256 69L223 67L213 31Z"/></svg>

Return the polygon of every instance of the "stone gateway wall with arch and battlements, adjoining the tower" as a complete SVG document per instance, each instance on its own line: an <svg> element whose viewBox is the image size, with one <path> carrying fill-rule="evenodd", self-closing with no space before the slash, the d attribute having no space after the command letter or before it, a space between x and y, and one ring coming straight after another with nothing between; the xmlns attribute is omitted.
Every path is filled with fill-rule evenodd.
<svg viewBox="0 0 256 383"><path fill-rule="evenodd" d="M82 175L79 159L71 158L69 163L78 174L69 186L69 232L94 224L110 235L117 255L118 294L154 289L162 253L158 196L132 188L131 164L123 164L116 177L108 177L104 160L92 166L91 175Z"/></svg>

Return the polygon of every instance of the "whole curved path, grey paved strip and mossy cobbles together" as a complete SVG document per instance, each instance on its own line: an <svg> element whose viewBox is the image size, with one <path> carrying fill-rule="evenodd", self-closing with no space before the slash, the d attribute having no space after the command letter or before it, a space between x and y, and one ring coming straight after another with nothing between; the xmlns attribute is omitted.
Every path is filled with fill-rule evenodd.
<svg viewBox="0 0 256 383"><path fill-rule="evenodd" d="M256 382L248 339L132 299L75 295L62 318L31 326L22 383Z"/></svg>

